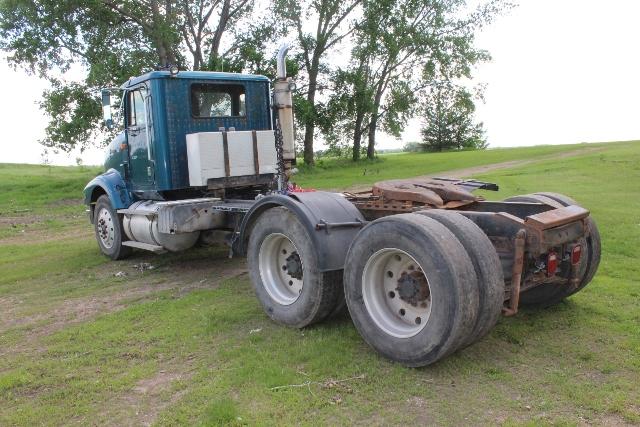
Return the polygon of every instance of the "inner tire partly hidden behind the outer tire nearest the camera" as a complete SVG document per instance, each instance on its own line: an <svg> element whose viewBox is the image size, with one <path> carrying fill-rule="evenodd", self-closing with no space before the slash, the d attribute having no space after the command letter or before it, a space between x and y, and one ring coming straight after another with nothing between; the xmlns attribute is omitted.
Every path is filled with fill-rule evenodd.
<svg viewBox="0 0 640 427"><path fill-rule="evenodd" d="M504 305L502 264L487 235L473 221L457 212L433 209L417 212L435 219L449 229L462 243L471 258L478 278L478 317L463 347L487 335L495 326Z"/></svg>

